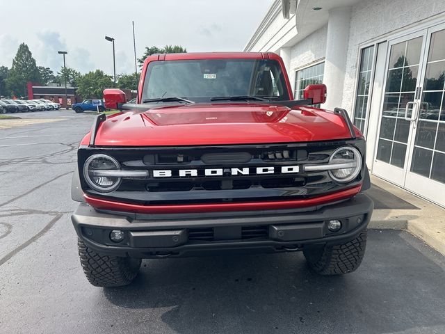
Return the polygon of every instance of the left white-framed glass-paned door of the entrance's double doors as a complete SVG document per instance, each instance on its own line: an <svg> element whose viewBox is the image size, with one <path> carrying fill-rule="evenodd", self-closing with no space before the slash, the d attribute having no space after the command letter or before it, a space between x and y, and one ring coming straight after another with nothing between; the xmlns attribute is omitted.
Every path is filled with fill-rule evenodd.
<svg viewBox="0 0 445 334"><path fill-rule="evenodd" d="M419 111L419 74L426 45L426 31L389 42L385 90L373 173L404 186L410 141Z"/></svg>

